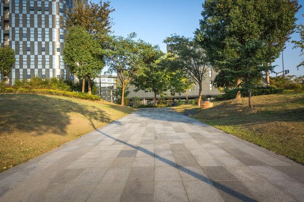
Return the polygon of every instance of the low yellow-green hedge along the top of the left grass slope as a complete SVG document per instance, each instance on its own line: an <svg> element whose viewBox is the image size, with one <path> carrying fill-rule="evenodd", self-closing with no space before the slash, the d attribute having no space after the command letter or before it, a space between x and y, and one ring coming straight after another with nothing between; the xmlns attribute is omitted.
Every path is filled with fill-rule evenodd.
<svg viewBox="0 0 304 202"><path fill-rule="evenodd" d="M5 88L3 93L36 93L36 94L51 94L66 97L74 97L85 100L101 100L98 95L89 95L87 93L76 93L54 89L26 89L26 88Z"/></svg>

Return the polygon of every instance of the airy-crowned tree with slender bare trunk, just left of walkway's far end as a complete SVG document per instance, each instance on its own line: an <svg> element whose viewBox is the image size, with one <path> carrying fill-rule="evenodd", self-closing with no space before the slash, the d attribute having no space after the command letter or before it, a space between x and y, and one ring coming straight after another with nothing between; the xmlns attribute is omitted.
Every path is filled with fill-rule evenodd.
<svg viewBox="0 0 304 202"><path fill-rule="evenodd" d="M117 73L118 80L122 86L121 105L124 106L124 92L142 68L149 64L154 57L154 47L142 40L135 41L136 34L133 32L126 38L114 36L110 42L107 63L108 72Z"/></svg>

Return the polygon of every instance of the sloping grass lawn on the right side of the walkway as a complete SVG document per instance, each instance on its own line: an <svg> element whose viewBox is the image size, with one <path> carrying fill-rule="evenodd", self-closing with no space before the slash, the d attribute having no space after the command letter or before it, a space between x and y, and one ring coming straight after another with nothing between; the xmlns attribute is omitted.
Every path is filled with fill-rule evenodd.
<svg viewBox="0 0 304 202"><path fill-rule="evenodd" d="M304 93L273 94L214 102L210 109L179 106L184 112L197 109L192 117L243 140L272 150L304 164Z"/></svg>

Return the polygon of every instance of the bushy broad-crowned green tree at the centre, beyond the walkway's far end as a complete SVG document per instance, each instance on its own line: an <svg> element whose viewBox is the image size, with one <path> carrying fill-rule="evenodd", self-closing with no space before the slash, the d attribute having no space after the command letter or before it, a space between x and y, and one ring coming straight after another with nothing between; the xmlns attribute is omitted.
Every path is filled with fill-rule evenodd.
<svg viewBox="0 0 304 202"><path fill-rule="evenodd" d="M171 95L175 93L183 93L186 83L185 74L181 70L172 69L169 66L170 54L165 55L159 48L155 49L156 53L154 61L148 64L140 74L131 80L131 84L135 85L135 92L144 90L145 92L154 93L154 104L157 105L156 96L166 94L170 91Z"/></svg>

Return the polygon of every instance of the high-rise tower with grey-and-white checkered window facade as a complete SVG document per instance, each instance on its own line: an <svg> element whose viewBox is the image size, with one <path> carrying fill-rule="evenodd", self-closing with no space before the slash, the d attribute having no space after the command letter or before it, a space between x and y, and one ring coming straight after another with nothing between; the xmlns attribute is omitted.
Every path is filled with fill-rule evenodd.
<svg viewBox="0 0 304 202"><path fill-rule="evenodd" d="M16 53L8 83L35 76L68 77L63 62L64 22L72 7L73 0L1 0L0 45Z"/></svg>

